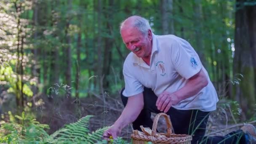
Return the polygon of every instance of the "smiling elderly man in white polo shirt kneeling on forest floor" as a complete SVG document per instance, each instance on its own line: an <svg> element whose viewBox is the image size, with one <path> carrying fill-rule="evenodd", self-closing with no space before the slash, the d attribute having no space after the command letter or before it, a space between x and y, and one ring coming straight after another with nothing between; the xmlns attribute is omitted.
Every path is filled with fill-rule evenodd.
<svg viewBox="0 0 256 144"><path fill-rule="evenodd" d="M140 125L152 128L151 112L165 112L171 117L174 132L192 135L192 144L253 140L252 125L227 136L204 137L209 112L216 109L219 99L208 72L186 40L154 35L149 22L140 16L123 21L120 33L131 51L123 64L121 99L125 108L104 137L119 136L131 123L140 131Z"/></svg>

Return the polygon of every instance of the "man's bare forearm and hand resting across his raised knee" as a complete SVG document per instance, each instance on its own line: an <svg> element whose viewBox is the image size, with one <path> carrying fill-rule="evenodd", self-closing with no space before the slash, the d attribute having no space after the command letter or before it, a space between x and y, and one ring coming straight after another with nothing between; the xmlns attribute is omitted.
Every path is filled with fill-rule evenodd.
<svg viewBox="0 0 256 144"><path fill-rule="evenodd" d="M156 102L157 109L168 112L172 105L176 105L180 101L194 96L206 85L208 85L208 80L203 72L203 69L201 69L197 74L190 77L184 87L178 91L173 93L164 91L162 94L160 94Z"/></svg>

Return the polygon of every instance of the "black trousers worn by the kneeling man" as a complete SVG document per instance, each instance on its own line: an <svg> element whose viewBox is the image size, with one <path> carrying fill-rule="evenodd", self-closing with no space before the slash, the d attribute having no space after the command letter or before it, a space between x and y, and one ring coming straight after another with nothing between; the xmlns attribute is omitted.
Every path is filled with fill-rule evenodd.
<svg viewBox="0 0 256 144"><path fill-rule="evenodd" d="M124 106L128 98L123 96L124 88L120 95ZM151 112L160 113L156 107L157 96L149 89L144 88L144 108L133 122L133 129L141 131L140 125L152 129L153 120L150 118ZM171 118L174 132L176 134L192 135L192 144L245 144L245 136L242 130L234 131L226 136L206 137L205 128L209 117L209 112L200 110L178 110L173 107L166 112Z"/></svg>

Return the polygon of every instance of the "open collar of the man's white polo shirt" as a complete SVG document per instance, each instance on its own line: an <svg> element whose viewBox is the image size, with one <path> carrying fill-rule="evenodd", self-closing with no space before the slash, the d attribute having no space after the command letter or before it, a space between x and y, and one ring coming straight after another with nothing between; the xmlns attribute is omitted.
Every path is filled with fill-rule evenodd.
<svg viewBox="0 0 256 144"><path fill-rule="evenodd" d="M157 47L157 38L156 35L152 32L152 52L151 52L151 56L150 56L150 65L151 65L151 61L152 61L152 56L154 55L154 53L156 51L158 51L158 47ZM144 65L146 64L143 59L139 58L138 56L136 56L136 54L133 53L134 59L133 59L133 63L135 64L139 64L139 65ZM146 64L147 65L147 64ZM148 65L147 65L148 66Z"/></svg>

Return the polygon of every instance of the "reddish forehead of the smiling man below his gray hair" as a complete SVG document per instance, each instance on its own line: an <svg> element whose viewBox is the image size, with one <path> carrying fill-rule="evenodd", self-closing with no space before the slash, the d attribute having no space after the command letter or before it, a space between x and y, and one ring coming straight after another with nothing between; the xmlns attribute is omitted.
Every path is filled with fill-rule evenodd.
<svg viewBox="0 0 256 144"><path fill-rule="evenodd" d="M133 39L139 39L142 34L138 29L134 27L124 27L121 30L121 36L124 42L128 42Z"/></svg>

